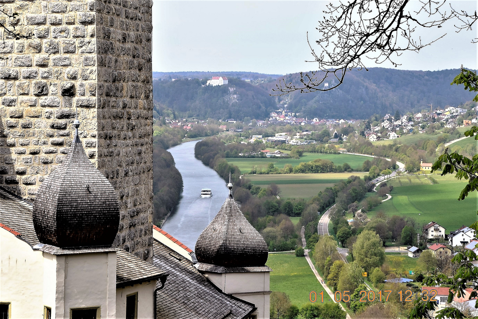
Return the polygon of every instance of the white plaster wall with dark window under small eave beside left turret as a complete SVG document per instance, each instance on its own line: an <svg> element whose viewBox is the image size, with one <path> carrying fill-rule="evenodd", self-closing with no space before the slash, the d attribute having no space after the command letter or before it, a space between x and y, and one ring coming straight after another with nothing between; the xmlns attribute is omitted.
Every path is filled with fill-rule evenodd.
<svg viewBox="0 0 478 319"><path fill-rule="evenodd" d="M116 316L126 318L126 296L138 293L138 319L151 319L153 317L153 293L156 289L156 280L143 282L133 286L116 289Z"/></svg>

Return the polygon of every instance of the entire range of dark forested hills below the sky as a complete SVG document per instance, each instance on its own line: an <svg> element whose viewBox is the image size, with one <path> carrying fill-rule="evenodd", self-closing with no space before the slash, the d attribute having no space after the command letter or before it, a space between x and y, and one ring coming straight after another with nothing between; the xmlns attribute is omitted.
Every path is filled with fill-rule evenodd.
<svg viewBox="0 0 478 319"><path fill-rule="evenodd" d="M288 109L309 118L366 119L375 113L393 114L396 110L400 113L419 112L429 110L428 104L443 108L471 101L473 93L463 90L463 87L450 85L458 73L458 69L424 72L371 68L368 72L349 72L344 84L335 90L302 94L295 92L281 99L289 100ZM300 83L298 73L288 74L284 78L286 82ZM269 95L273 93L276 82L251 84L229 78L228 85L202 86L205 83L205 78L155 80L155 115L162 115L163 109L167 108L178 117L264 119L277 108L278 100ZM332 83L331 79L330 85Z"/></svg>

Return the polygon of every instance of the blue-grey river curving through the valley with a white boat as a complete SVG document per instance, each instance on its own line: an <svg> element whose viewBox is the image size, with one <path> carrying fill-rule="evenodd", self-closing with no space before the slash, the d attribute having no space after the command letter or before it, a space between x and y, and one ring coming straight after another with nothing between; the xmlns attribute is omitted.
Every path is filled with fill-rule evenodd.
<svg viewBox="0 0 478 319"><path fill-rule="evenodd" d="M183 176L183 197L174 214L169 216L163 230L194 250L197 237L216 216L228 197L226 182L194 157L199 141L179 144L168 151L173 154L176 168ZM210 188L212 197L201 198L201 188Z"/></svg>

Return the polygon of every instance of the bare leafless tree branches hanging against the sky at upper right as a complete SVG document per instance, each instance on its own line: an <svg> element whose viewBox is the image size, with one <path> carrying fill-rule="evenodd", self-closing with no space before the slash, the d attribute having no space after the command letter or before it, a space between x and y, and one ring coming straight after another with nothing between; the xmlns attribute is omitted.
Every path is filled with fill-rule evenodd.
<svg viewBox="0 0 478 319"><path fill-rule="evenodd" d="M471 30L478 20L476 12L455 10L445 5L446 0L420 0L419 8L414 11L409 9L411 3L411 0L351 0L328 4L316 28L319 34L314 44L318 49L313 47L307 33L313 59L306 62L318 62L318 70L301 72L300 84L282 79L273 89L276 94L271 95L333 90L344 82L347 72L368 71L365 58L377 64L391 62L396 67L400 64L395 59L404 51L418 52L446 35L422 42L414 34L417 28L441 28L454 19L458 21L455 27L459 32ZM332 85L331 80L334 80Z"/></svg>

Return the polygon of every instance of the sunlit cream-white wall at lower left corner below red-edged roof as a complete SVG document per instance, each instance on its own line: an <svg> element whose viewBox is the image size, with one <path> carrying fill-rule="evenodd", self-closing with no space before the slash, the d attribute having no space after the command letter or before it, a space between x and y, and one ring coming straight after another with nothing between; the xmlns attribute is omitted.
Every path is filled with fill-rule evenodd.
<svg viewBox="0 0 478 319"><path fill-rule="evenodd" d="M43 318L44 306L55 310L55 268L55 256L0 228L0 302L11 302L12 319Z"/></svg>

